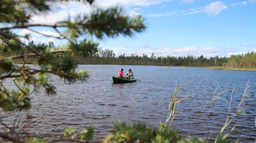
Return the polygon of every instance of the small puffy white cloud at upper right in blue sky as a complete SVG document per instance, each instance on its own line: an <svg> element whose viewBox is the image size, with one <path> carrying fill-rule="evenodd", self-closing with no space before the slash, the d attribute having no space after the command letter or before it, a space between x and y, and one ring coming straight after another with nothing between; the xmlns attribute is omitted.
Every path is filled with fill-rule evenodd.
<svg viewBox="0 0 256 143"><path fill-rule="evenodd" d="M206 5L204 8L204 12L207 13L207 15L218 15L222 10L227 9L227 5L223 2L217 1L210 3L209 5Z"/></svg>

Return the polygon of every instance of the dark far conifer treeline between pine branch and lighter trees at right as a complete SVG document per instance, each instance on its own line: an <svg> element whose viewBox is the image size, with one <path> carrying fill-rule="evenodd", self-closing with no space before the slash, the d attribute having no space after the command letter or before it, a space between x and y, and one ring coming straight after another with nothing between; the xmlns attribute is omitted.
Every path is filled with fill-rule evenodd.
<svg viewBox="0 0 256 143"><path fill-rule="evenodd" d="M205 58L203 55L196 57L188 56L155 56L154 53L149 57L143 54L142 56L132 54L116 56L112 50L101 50L88 58L79 59L81 64L125 64L125 65L170 65L170 66L224 66L228 58L211 57Z"/></svg>

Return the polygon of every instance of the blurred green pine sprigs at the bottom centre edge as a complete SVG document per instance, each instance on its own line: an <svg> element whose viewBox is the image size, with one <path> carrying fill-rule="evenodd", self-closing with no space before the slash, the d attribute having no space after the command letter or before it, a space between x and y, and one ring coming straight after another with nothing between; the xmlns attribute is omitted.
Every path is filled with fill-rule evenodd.
<svg viewBox="0 0 256 143"><path fill-rule="evenodd" d="M112 129L113 133L106 136L104 143L171 143L183 139L175 130L165 133L159 128L147 128L146 123L115 121Z"/></svg>

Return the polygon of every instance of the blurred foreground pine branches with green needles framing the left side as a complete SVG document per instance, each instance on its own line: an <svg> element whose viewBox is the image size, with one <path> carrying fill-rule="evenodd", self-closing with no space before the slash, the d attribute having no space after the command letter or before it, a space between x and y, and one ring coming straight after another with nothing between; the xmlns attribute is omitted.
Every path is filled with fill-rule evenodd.
<svg viewBox="0 0 256 143"><path fill-rule="evenodd" d="M77 62L74 58L85 58L98 51L99 43L91 39L113 38L118 35L133 36L134 33L143 32L146 28L144 19L140 15L129 17L119 7L105 10L95 8L90 15L78 15L54 24L30 23L33 15L51 11L50 5L68 4L69 1L73 0L0 0L0 51L2 53L0 55L0 110L3 113L30 108L30 95L39 88L44 88L47 95L54 94L55 86L50 83L49 75L60 77L68 83L78 80L86 81L89 73L86 70L77 71ZM94 0L75 1L94 6ZM34 30L40 27L52 28L58 36ZM31 36L29 34L18 35L18 30L29 30L48 38L68 42L59 48L54 48L55 45L52 42L48 45L44 43L36 45L32 41L27 45L22 40L31 41ZM78 40L78 38L84 39ZM34 65L26 65L29 60ZM20 65L15 63L17 61ZM6 85L7 82L14 86L9 88L10 86ZM24 130L16 130L14 126L6 125L2 121L0 123L1 138L13 142L27 142L28 140L44 142L45 140L40 135L29 135ZM22 124L17 128L23 129L26 126ZM86 142L91 138L88 132L91 132L91 128L86 128L82 133L77 134L78 138L70 137L69 131L65 134L65 138L56 138L57 140ZM55 141L52 139L49 142Z"/></svg>

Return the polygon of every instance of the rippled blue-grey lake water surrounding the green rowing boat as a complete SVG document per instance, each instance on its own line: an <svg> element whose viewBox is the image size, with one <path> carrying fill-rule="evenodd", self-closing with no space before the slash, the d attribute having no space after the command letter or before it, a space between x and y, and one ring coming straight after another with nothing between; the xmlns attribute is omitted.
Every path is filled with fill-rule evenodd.
<svg viewBox="0 0 256 143"><path fill-rule="evenodd" d="M111 77L117 76L120 68L125 73L131 68L134 76L141 81L112 83ZM29 131L59 134L68 127L81 131L84 126L93 125L95 139L102 139L111 132L115 120L146 122L149 126L159 127L157 122L165 122L167 117L175 86L182 85L178 98L187 96L177 104L172 129L185 137L197 136L211 142L226 121L231 96L229 115L237 110L249 81L251 87L246 94L250 97L246 97L242 105L246 114L233 116L227 131L237 125L229 135L231 140L242 137L239 142L255 142L256 71L136 65L79 65L79 69L89 70L91 76L86 82L65 84L52 76L57 95L44 95L43 90L34 93L31 100L33 107L18 115L25 117L29 113L35 118L40 115L44 118L32 124ZM227 91L221 93L223 90ZM220 93L220 99L214 100L210 108L211 102L206 103L214 93ZM135 96L137 98L131 100ZM5 119L11 121L13 116Z"/></svg>

